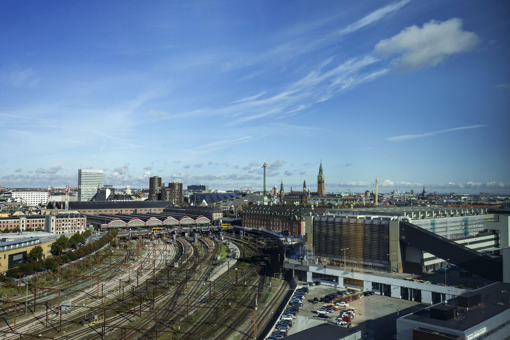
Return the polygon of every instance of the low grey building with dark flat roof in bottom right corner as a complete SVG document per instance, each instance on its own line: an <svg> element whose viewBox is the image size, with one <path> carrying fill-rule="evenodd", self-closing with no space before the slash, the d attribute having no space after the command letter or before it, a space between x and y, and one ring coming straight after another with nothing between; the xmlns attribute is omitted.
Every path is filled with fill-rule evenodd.
<svg viewBox="0 0 510 340"><path fill-rule="evenodd" d="M495 282L397 319L397 340L499 340L510 334L510 284Z"/></svg>

